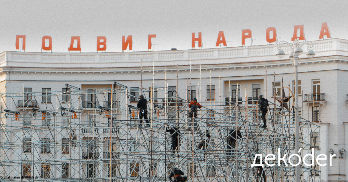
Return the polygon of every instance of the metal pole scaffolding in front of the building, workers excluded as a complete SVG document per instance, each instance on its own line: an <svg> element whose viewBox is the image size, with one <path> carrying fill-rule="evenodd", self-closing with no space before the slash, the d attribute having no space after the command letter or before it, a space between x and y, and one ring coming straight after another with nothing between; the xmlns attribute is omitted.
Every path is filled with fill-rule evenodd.
<svg viewBox="0 0 348 182"><path fill-rule="evenodd" d="M295 153L294 114L284 107L270 103L268 128L263 129L258 100L246 94L223 100L220 85L218 94L210 92L210 99L204 99L200 87L197 98L203 107L192 119L188 100L167 85L153 84L140 91L151 96L146 127L138 119L139 90L116 82L110 87L80 90L66 84L65 91L0 94L1 175L38 176L35 181L153 182L168 181L175 166L192 182L260 182L262 172L251 166L254 156L273 153L276 165L263 168L266 181L294 181L295 167L277 160L278 149L286 161ZM172 135L166 132L173 127L180 130L179 151L172 149ZM233 147L227 137L238 127L242 138ZM319 154L319 123L300 118L300 129L300 156L312 149ZM204 131L211 138L200 150ZM319 181L319 171L317 165L301 166L301 179Z"/></svg>

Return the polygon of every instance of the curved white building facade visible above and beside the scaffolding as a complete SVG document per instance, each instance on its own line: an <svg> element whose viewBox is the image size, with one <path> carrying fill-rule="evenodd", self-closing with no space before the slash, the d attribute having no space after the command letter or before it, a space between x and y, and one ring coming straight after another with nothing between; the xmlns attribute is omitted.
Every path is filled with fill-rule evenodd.
<svg viewBox="0 0 348 182"><path fill-rule="evenodd" d="M303 52L307 52L308 48L303 48ZM242 99L240 101L246 101L245 98L257 100L253 98L262 94L277 103L274 97L277 89L290 85L291 91L294 90L293 61L287 56L279 59L275 55L277 50L277 45L272 44L116 53L6 51L0 54L0 91L2 94L64 92L65 84L81 90L108 90L116 81L133 91L135 97L139 96L140 88L168 86L181 98L192 100L196 97L201 103L212 100L224 102L229 98L236 101L233 100L236 92ZM348 40L314 41L313 50L316 53L314 58L307 58L305 54L299 58L300 116L320 125L320 133L316 136L320 138L315 144L321 149L320 153L330 156L329 149L332 149L331 153L337 156L332 159L332 166L328 160L327 165L320 168L321 181L348 181L345 152L348 148ZM284 47L284 51L290 53L289 47ZM158 92L156 97L164 98L166 93ZM24 97L23 94L23 99L13 102L6 98L1 103L1 109L16 111L17 106L23 105L20 100L26 100ZM149 98L149 95L145 94L145 97ZM42 100L45 99L43 96ZM61 99L64 100L63 95ZM101 101L106 99L100 97L97 101L103 105ZM49 100L53 104L57 102L53 98ZM136 100L134 103L132 99L130 101L130 104L136 105ZM47 103L38 101L34 104L42 109ZM81 156L76 154L73 158ZM102 165L98 167L102 171ZM90 170L87 168L86 171ZM21 173L22 169L17 170ZM42 176L41 171L33 173Z"/></svg>

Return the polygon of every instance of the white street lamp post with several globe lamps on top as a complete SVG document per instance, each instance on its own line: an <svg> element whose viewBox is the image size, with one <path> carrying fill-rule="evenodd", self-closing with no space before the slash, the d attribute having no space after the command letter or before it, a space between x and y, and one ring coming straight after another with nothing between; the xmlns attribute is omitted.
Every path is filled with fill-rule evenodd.
<svg viewBox="0 0 348 182"><path fill-rule="evenodd" d="M302 54L302 46L304 44L309 44L310 50L308 50L307 52L307 56L308 58L313 58L315 55L315 52L312 50L313 48L313 42L312 41L304 41L301 45L299 42L299 39L295 39L293 43L288 43L287 41L280 41L278 43L278 47L280 48L277 51L277 56L279 58L283 58L283 56L285 55L285 52L282 50L283 44L287 44L288 46L290 46L290 54L289 54L289 58L291 60L294 60L294 68L295 68L295 153L299 152L300 149L300 135L299 135L299 94L298 94L298 71L297 71L297 67L299 66L299 55ZM296 163L298 164L299 159L296 158ZM300 165L295 166L295 180L296 182L300 182Z"/></svg>

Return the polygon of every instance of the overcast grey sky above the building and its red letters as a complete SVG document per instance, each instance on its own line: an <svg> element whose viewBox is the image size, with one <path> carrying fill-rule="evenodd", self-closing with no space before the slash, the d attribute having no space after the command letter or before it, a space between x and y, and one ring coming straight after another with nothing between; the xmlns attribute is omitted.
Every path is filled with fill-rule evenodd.
<svg viewBox="0 0 348 182"><path fill-rule="evenodd" d="M71 36L81 36L81 52L96 52L97 36L107 38L106 52L121 52L128 35L133 51L148 51L149 34L157 35L154 50L191 49L192 32L202 32L204 48L215 48L219 31L237 47L242 29L251 29L254 45L265 45L268 27L279 41L291 41L294 25L303 24L306 39L318 40L323 22L333 38L348 39L347 0L0 2L0 52L15 50L16 35L26 35L27 52L40 52L45 35L53 52L69 52Z"/></svg>

